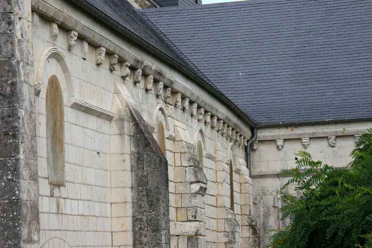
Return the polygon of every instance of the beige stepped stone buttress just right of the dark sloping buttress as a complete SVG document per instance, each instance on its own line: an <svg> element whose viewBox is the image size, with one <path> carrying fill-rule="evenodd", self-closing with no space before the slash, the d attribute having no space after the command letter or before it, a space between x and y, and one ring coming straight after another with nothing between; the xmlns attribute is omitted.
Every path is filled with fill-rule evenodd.
<svg viewBox="0 0 372 248"><path fill-rule="evenodd" d="M205 247L204 195L207 179L196 156L196 146L176 135L174 182L178 248Z"/></svg>

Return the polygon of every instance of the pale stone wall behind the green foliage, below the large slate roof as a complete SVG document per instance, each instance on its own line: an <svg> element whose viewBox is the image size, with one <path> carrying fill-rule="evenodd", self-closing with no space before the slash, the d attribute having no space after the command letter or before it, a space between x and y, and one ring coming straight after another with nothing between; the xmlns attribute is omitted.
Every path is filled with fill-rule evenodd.
<svg viewBox="0 0 372 248"><path fill-rule="evenodd" d="M289 178L279 175L279 171L294 167L294 153L305 150L315 160L345 167L359 135L371 126L372 122L358 122L258 129L258 142L252 152L252 203L262 232L262 247L271 234L286 224L280 220L281 202L277 191ZM289 190L295 194L293 187Z"/></svg>

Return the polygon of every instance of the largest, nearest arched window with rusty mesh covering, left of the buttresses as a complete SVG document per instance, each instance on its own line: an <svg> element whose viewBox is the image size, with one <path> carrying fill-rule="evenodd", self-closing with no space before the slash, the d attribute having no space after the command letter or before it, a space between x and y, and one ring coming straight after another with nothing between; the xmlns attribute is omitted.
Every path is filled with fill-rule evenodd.
<svg viewBox="0 0 372 248"><path fill-rule="evenodd" d="M47 168L49 183L65 185L64 171L64 109L61 85L52 75L48 80L47 112Z"/></svg>

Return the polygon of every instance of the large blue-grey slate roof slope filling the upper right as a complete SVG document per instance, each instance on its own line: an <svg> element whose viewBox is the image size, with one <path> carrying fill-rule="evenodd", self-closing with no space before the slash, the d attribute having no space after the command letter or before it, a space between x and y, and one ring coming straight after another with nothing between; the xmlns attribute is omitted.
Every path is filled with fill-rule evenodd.
<svg viewBox="0 0 372 248"><path fill-rule="evenodd" d="M141 10L257 124L372 117L371 0Z"/></svg>

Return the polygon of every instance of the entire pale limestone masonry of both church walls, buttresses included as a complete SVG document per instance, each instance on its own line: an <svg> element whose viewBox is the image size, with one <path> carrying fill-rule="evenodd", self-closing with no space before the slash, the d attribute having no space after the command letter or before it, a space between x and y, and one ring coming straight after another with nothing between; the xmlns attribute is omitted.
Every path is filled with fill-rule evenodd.
<svg viewBox="0 0 372 248"><path fill-rule="evenodd" d="M248 171L251 126L71 1L0 0L0 45L1 248L263 248L294 153L345 166L372 126L258 128Z"/></svg>

